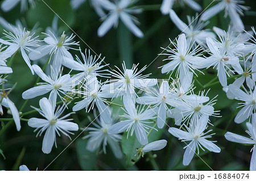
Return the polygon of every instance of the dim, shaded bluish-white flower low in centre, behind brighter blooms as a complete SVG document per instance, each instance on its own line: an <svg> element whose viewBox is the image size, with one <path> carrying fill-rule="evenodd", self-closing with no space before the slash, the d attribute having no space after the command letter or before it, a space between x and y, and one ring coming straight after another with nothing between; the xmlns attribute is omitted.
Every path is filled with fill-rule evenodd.
<svg viewBox="0 0 256 181"><path fill-rule="evenodd" d="M86 130L90 131L87 136L83 137L84 139L89 138L86 149L95 151L100 148L100 145L102 144L103 151L106 154L106 146L109 145L115 157L122 158L123 154L118 144L118 142L121 141L122 136L120 134L108 134L108 129L113 125L115 120L111 119L110 123L106 124L109 120L105 121L104 119L106 119L106 117L101 115L100 120L96 118L98 124L92 123L96 128L86 128Z"/></svg>

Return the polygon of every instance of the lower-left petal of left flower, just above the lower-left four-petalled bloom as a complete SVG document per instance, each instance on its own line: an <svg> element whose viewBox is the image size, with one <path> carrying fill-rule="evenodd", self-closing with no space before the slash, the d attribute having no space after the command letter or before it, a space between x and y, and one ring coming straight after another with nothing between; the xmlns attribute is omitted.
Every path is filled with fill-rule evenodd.
<svg viewBox="0 0 256 181"><path fill-rule="evenodd" d="M44 95L47 92L51 91L52 87L49 85L42 85L42 86L36 86L32 87L31 89L28 89L22 93L23 99L32 99L39 95Z"/></svg>

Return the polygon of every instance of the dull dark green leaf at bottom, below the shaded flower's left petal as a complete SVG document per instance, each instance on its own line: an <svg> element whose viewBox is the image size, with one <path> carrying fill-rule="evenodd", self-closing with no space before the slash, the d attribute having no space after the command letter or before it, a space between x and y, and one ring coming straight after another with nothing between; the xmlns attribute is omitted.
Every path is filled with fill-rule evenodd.
<svg viewBox="0 0 256 181"><path fill-rule="evenodd" d="M77 157L79 159L79 165L82 170L96 170L96 162L98 154L95 152L90 152L86 149L88 140L78 139L76 141L76 151Z"/></svg>

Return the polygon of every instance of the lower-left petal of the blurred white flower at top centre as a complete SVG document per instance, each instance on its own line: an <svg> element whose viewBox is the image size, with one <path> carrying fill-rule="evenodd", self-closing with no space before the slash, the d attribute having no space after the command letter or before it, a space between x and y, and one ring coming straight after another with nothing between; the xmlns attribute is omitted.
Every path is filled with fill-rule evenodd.
<svg viewBox="0 0 256 181"><path fill-rule="evenodd" d="M98 28L98 36L102 37L110 30L111 27L118 21L118 15L116 13L109 15L107 19Z"/></svg>

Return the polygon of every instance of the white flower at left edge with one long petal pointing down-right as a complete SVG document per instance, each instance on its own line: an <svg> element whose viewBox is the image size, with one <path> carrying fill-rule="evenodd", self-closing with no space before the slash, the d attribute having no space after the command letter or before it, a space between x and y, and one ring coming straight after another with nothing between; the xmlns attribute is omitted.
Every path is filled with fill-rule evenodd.
<svg viewBox="0 0 256 181"><path fill-rule="evenodd" d="M26 51L36 52L36 50L32 48L39 46L38 40L36 40L38 36L33 37L34 33L26 31L26 28L23 30L22 28L14 28L13 32L5 31L3 34L7 37L8 40L0 39L0 43L9 45L9 47L6 49L6 51L9 52L9 56L12 56L18 49L20 49L24 61L34 75L34 70L30 65L30 58L28 58Z"/></svg>

